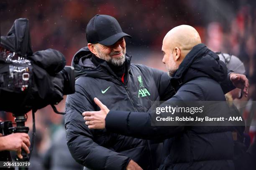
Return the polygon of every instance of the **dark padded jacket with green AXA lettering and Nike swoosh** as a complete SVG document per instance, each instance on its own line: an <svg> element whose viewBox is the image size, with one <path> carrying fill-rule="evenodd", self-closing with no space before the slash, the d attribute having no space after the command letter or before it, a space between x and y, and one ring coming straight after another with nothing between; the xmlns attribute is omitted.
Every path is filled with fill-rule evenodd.
<svg viewBox="0 0 256 170"><path fill-rule="evenodd" d="M87 47L79 50L72 61L76 73L76 92L67 96L65 128L67 145L73 158L94 170L125 169L133 159L144 170L160 164L162 143L89 130L82 112L100 110L93 98L100 99L112 110L147 112L151 101L166 100L174 95L166 72L144 65L131 64L126 56L128 76L123 84L107 62L95 67ZM160 87L161 85L161 87Z"/></svg>

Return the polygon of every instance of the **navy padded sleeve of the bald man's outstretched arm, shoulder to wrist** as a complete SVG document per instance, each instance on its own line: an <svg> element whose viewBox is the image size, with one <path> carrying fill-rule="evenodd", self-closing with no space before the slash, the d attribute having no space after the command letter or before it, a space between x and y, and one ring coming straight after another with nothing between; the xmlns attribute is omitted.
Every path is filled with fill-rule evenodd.
<svg viewBox="0 0 256 170"><path fill-rule="evenodd" d="M183 85L176 95L162 103L159 107L187 105L186 103L181 102L184 100L203 100L202 89L198 85L193 85L191 83ZM154 114L156 114L154 111L125 112L110 110L105 118L105 126L108 131L113 133L150 140L171 138L184 131L184 125L179 125L177 123L177 126L152 126L151 122L153 122L152 120L155 118ZM175 117L176 114L164 112L159 116L166 117L166 115Z"/></svg>

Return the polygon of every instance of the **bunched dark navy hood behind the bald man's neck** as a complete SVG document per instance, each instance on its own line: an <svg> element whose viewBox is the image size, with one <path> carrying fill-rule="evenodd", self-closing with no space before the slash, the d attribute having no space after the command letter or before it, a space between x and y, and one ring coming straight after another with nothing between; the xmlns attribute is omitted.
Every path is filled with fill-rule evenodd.
<svg viewBox="0 0 256 170"><path fill-rule="evenodd" d="M225 63L202 43L193 47L186 55L174 72L171 84L177 92L184 83L197 77L210 77L218 82L227 77Z"/></svg>

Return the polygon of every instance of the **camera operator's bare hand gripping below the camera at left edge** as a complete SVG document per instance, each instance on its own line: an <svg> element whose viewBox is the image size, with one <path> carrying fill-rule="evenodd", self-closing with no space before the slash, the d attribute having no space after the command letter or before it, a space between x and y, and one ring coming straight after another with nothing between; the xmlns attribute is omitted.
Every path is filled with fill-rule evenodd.
<svg viewBox="0 0 256 170"><path fill-rule="evenodd" d="M27 133L13 133L0 137L0 151L9 150L16 151L17 156L22 159L21 149L29 153L30 141Z"/></svg>

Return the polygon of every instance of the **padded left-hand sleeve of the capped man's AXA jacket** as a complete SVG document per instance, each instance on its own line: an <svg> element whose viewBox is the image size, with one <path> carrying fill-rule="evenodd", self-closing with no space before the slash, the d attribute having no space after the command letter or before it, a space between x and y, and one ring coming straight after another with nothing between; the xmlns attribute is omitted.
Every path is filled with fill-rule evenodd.
<svg viewBox="0 0 256 170"><path fill-rule="evenodd" d="M94 142L93 130L85 125L82 112L95 110L85 90L76 85L76 92L67 96L65 128L67 146L72 157L93 170L123 170L131 158Z"/></svg>

